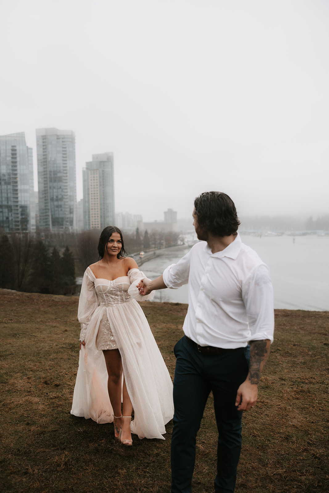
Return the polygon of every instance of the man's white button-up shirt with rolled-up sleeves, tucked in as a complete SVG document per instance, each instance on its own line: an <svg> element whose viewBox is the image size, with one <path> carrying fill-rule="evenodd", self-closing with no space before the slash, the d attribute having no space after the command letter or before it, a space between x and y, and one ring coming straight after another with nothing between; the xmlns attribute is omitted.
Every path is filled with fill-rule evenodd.
<svg viewBox="0 0 329 493"><path fill-rule="evenodd" d="M194 245L163 273L167 287L188 283L187 337L200 346L234 349L248 341L273 341L273 288L267 265L241 242L239 234L212 253L206 242Z"/></svg>

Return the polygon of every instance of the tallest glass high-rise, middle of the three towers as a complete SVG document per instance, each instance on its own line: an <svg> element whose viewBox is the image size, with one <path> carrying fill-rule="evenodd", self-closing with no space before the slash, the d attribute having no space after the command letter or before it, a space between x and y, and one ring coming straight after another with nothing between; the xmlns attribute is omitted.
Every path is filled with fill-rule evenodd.
<svg viewBox="0 0 329 493"><path fill-rule="evenodd" d="M39 228L75 231L74 133L56 128L39 128L36 133Z"/></svg>

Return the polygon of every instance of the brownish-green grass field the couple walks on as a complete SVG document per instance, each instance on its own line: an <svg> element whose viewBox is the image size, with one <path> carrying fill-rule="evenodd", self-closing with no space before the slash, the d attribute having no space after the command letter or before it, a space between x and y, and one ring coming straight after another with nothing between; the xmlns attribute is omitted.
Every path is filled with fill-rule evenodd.
<svg viewBox="0 0 329 493"><path fill-rule="evenodd" d="M170 436L123 447L113 425L70 414L78 299L0 290L0 491L170 492ZM186 305L142 303L174 374ZM254 409L243 417L236 493L329 492L329 312L277 310ZM216 424L208 399L193 493L213 492Z"/></svg>

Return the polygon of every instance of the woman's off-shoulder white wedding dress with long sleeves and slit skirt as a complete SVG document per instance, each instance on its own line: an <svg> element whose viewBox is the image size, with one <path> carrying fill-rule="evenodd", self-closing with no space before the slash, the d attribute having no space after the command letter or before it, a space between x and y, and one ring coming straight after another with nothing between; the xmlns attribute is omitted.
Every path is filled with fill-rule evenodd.
<svg viewBox="0 0 329 493"><path fill-rule="evenodd" d="M79 355L71 414L97 423L113 421L105 358L97 349L104 347L104 336L109 333L108 348L117 347L120 351L134 408L132 433L140 438L163 439L165 424L174 414L173 384L144 312L136 301L154 296L154 293L139 294L136 284L145 277L138 269L131 269L127 276L109 281L96 279L89 267L85 271L78 319L80 341L84 340L86 346L81 346Z"/></svg>

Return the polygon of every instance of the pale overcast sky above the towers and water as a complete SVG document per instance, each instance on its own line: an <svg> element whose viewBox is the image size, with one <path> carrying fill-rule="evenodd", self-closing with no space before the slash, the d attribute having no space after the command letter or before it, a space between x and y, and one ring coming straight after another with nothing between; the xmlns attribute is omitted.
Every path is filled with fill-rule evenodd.
<svg viewBox="0 0 329 493"><path fill-rule="evenodd" d="M146 221L206 190L329 213L328 0L0 0L0 43L0 135L36 164L36 128L73 130L78 200L112 151L115 209Z"/></svg>

